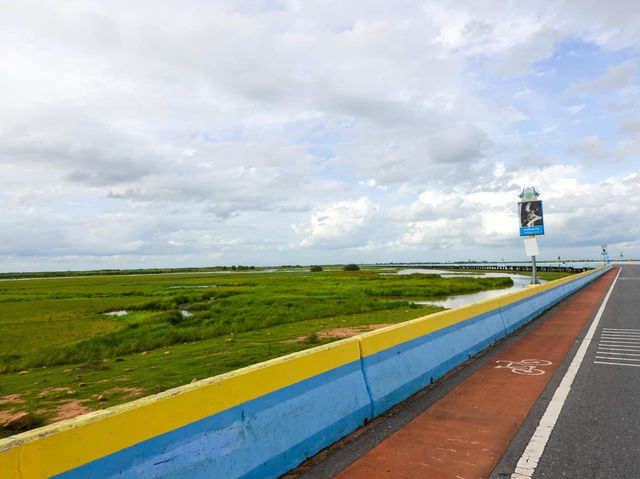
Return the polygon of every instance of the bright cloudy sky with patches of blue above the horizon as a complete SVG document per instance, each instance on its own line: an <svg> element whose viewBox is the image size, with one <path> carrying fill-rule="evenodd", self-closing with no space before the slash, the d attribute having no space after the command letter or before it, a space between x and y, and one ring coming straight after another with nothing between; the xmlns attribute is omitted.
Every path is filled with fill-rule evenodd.
<svg viewBox="0 0 640 479"><path fill-rule="evenodd" d="M634 1L0 0L0 271L640 258Z"/></svg>

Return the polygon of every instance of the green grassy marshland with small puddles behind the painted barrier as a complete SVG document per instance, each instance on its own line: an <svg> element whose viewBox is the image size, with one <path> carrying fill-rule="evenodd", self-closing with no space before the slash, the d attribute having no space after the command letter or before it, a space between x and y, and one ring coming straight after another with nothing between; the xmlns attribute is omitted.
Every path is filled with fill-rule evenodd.
<svg viewBox="0 0 640 479"><path fill-rule="evenodd" d="M39 425L112 406L439 310L411 300L512 284L379 273L0 281L0 424L16 411L31 412ZM128 314L104 314L118 310Z"/></svg>

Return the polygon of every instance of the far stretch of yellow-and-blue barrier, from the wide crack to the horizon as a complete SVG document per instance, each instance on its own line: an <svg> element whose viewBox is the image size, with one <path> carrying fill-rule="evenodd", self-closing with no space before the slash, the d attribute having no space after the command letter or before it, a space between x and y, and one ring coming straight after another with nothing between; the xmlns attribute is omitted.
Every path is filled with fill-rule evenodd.
<svg viewBox="0 0 640 479"><path fill-rule="evenodd" d="M581 273L363 335L362 365L373 415L442 377L604 271Z"/></svg>

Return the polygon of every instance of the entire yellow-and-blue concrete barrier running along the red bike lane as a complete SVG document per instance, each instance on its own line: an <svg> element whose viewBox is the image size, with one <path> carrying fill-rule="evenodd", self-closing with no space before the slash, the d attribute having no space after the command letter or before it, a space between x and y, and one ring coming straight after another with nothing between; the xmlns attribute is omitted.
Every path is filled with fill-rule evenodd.
<svg viewBox="0 0 640 479"><path fill-rule="evenodd" d="M277 477L606 268L0 440L0 478Z"/></svg>

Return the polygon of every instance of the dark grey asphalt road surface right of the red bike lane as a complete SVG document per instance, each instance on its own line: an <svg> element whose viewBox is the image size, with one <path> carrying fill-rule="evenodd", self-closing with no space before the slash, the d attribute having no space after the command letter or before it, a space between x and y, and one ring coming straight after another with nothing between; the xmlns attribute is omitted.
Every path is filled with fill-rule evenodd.
<svg viewBox="0 0 640 479"><path fill-rule="evenodd" d="M578 338L587 337L584 359L534 478L640 477L640 267L622 267L592 338L587 328ZM492 478L511 477L573 356L567 355Z"/></svg>

